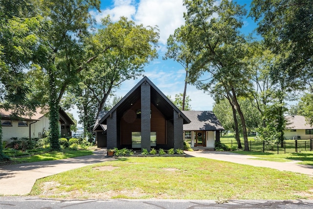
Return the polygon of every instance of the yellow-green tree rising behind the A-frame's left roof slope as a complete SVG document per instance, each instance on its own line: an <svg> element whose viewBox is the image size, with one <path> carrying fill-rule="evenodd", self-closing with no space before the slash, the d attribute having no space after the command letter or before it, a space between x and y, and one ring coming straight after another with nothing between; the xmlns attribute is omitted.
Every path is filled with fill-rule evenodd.
<svg viewBox="0 0 313 209"><path fill-rule="evenodd" d="M79 88L74 92L85 133L90 132L112 91L122 82L141 75L144 66L156 58L158 38L155 27L144 27L125 17L114 23L109 16L102 20L102 25L86 46L89 56L104 47L114 47L99 54L82 70Z"/></svg>

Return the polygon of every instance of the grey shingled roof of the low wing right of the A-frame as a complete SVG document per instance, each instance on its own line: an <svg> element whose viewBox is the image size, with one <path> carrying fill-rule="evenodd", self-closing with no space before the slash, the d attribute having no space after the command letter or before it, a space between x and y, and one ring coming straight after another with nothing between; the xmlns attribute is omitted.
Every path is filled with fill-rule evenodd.
<svg viewBox="0 0 313 209"><path fill-rule="evenodd" d="M181 111L191 122L183 125L184 131L223 131L225 130L212 111Z"/></svg>

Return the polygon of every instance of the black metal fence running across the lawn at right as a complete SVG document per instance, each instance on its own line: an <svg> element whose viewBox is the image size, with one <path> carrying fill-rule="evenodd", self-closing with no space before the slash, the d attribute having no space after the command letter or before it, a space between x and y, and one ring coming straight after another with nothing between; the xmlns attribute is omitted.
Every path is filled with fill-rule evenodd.
<svg viewBox="0 0 313 209"><path fill-rule="evenodd" d="M238 147L237 141L232 139L221 139L221 142L227 146L236 146ZM250 151L259 151L259 152L270 152L275 154L284 154L284 153L295 153L301 151L312 151L313 150L313 139L306 140L284 140L284 145L281 143L268 144L265 141L248 141ZM242 146L245 144L242 141Z"/></svg>

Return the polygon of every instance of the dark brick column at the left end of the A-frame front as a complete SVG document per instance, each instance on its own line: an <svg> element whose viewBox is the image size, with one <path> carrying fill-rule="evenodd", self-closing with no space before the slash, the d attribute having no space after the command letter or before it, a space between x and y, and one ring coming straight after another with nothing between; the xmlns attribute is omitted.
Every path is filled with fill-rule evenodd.
<svg viewBox="0 0 313 209"><path fill-rule="evenodd" d="M107 118L107 148L117 147L117 122L116 111Z"/></svg>

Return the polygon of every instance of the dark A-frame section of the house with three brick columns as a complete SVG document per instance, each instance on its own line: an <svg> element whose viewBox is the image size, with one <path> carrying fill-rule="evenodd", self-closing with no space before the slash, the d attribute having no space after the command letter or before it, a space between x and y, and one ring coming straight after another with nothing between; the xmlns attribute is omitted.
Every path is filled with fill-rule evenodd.
<svg viewBox="0 0 313 209"><path fill-rule="evenodd" d="M109 149L183 149L182 125L186 123L190 120L145 76L95 124L94 130L107 125L107 141L97 141Z"/></svg>

